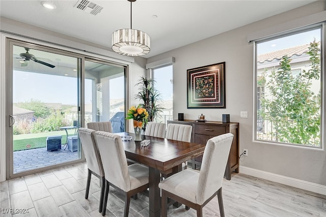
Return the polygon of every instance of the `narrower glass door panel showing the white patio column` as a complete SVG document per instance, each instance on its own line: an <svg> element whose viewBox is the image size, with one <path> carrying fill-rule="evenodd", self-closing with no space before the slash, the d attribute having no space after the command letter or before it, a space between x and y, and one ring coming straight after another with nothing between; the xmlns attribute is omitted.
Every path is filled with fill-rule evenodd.
<svg viewBox="0 0 326 217"><path fill-rule="evenodd" d="M125 131L125 67L85 61L85 126L112 123L113 132Z"/></svg>

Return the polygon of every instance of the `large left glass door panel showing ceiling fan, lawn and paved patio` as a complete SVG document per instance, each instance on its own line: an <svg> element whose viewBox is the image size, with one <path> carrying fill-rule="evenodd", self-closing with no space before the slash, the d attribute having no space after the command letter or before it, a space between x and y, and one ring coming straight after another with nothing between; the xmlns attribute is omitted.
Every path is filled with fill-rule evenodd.
<svg viewBox="0 0 326 217"><path fill-rule="evenodd" d="M80 159L80 58L20 43L12 55L11 175Z"/></svg>

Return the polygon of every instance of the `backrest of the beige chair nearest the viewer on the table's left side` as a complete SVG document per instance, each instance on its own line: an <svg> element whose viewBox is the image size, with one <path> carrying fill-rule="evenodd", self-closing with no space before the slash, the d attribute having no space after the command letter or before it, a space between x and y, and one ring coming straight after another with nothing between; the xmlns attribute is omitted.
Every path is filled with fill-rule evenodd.
<svg viewBox="0 0 326 217"><path fill-rule="evenodd" d="M102 158L105 179L118 188L129 191L131 183L121 136L96 131L96 140Z"/></svg>

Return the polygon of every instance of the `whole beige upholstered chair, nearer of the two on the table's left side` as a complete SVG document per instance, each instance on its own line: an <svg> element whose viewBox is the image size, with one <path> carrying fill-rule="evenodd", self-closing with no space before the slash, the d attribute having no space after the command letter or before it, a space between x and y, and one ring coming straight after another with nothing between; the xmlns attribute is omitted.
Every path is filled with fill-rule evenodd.
<svg viewBox="0 0 326 217"><path fill-rule="evenodd" d="M148 167L139 163L128 166L122 139L119 135L96 131L96 140L105 173L102 215L104 216L106 212L108 190L111 185L117 190L124 192L124 217L127 217L131 196L149 187Z"/></svg>

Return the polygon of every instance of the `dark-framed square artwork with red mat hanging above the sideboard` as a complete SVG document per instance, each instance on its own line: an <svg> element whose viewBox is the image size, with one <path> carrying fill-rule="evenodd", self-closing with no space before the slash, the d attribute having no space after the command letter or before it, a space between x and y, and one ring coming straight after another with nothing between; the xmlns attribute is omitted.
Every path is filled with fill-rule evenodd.
<svg viewBox="0 0 326 217"><path fill-rule="evenodd" d="M225 108L225 62L187 70L187 108Z"/></svg>

